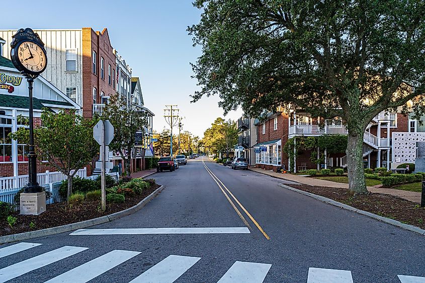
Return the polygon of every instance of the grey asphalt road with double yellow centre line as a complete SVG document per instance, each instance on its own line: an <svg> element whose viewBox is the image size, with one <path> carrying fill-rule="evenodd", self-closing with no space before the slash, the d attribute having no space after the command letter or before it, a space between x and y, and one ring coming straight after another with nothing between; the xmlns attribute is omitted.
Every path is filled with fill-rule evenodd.
<svg viewBox="0 0 425 283"><path fill-rule="evenodd" d="M42 245L5 257L1 257L2 248L16 243L1 245L0 268L7 269L0 269L0 282L8 278L8 273L23 273L23 266L33 264L34 256L40 255L35 262L53 258L54 254L45 253L64 246L88 249L63 255L63 259L59 256L57 261L17 276L11 282L44 282L68 270L71 271L57 279L129 282L148 270L140 281L261 282L265 276L264 282L350 282L337 277L339 273L344 277L348 271L329 271L332 274L320 277L321 269L318 273L311 269L308 275L310 267L349 270L355 283L400 282L397 275L425 276L424 236L285 190L278 186L283 182L280 179L204 163L201 158L190 160L174 172L155 173L152 177L165 186L158 197L133 215L89 229L235 227L245 228L249 233L69 235L68 232L25 241ZM128 258L120 261L113 252L112 259L96 259L114 250L125 251ZM63 250L57 253L66 254ZM180 265L161 262L165 258L170 262L182 261ZM27 259L29 263L21 263ZM94 261L84 265L91 260ZM161 271L164 266L167 272ZM180 266L183 275L168 280L161 277L179 273L169 270L176 266ZM239 273L244 273L246 278ZM333 281L332 276L336 276ZM418 278L404 280L423 282Z"/></svg>

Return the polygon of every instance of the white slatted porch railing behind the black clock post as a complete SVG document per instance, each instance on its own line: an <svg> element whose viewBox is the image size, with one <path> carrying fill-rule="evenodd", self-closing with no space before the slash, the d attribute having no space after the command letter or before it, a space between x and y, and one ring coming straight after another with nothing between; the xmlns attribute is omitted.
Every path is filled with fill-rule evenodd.
<svg viewBox="0 0 425 283"><path fill-rule="evenodd" d="M80 176L81 178L87 177L87 168L84 167L83 169L79 169L75 175ZM45 173L37 173L37 182L39 185L61 182L66 178L66 175L61 172L46 171ZM27 183L28 175L19 175L17 177L1 177L0 190L24 187Z"/></svg>

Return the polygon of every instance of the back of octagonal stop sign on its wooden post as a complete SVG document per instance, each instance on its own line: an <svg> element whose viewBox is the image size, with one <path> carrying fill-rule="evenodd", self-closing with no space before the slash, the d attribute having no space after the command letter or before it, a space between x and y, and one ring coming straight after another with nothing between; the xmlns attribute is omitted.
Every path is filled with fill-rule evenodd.
<svg viewBox="0 0 425 283"><path fill-rule="evenodd" d="M114 126L109 120L100 120L93 128L93 138L101 145L101 162L102 162L102 211L106 210L106 146L114 139ZM109 147L108 147L109 150ZM109 156L109 153L108 153ZM110 164L109 164L110 163ZM108 168L111 168L112 162L108 162Z"/></svg>

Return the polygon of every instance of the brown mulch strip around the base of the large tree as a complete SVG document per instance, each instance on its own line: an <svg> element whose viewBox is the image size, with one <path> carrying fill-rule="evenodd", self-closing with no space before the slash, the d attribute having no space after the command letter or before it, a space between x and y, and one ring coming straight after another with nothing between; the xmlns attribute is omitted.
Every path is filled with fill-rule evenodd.
<svg viewBox="0 0 425 283"><path fill-rule="evenodd" d="M383 217L398 220L402 223L425 229L425 208L419 208L417 203L385 194L370 194L368 196L351 195L345 188L291 184L305 192L326 197L347 204L360 210L368 211Z"/></svg>

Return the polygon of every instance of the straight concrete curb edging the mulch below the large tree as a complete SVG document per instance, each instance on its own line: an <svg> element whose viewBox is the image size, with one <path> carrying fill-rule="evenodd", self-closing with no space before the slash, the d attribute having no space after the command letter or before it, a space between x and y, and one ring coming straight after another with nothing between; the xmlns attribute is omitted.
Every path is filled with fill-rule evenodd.
<svg viewBox="0 0 425 283"><path fill-rule="evenodd" d="M349 205L346 205L346 204L343 204L343 203L340 203L340 202L337 202L337 201L334 201L334 200L331 200L331 199L328 199L328 198L325 198L325 197L322 197L322 196L318 196L318 195L314 195L314 194L311 194L311 193L308 193L308 192L305 192L305 191L302 191L302 190L298 190L298 188L294 188L294 187L291 187L291 186L288 186L288 185L285 185L285 184L279 184L279 186L287 188L288 190L299 193L301 195L305 195L305 196L311 197L313 199L316 199L318 201L327 203L329 205L333 205L333 206L336 206L336 207L339 207L339 208L342 208L342 209L350 210L350 211L356 212L358 214L366 215L366 216L369 216L370 218L373 218L373 219L376 219L376 220L379 220L379 221L382 221L382 222L403 228L405 230L409 230L409 231L418 233L420 235L425 235L425 230L420 229L416 226L404 224L404 223L401 223L400 221L397 221L397 220L394 220L394 219L391 219L391 218L386 218L386 217L379 216L379 215L376 215L376 214L373 214L373 213L370 213L370 212L367 212L367 211L364 211L364 210L360 210L360 209L351 207Z"/></svg>

